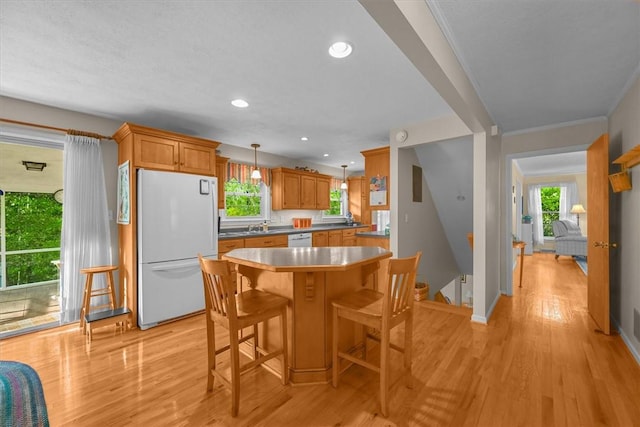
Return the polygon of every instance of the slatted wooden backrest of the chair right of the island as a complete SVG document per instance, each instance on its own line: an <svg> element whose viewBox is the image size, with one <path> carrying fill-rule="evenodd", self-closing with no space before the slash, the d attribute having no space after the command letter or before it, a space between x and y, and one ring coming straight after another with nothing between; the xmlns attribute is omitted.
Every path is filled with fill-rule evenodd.
<svg viewBox="0 0 640 427"><path fill-rule="evenodd" d="M382 305L383 318L388 320L413 308L413 289L421 256L422 252L418 251L412 257L389 260Z"/></svg>

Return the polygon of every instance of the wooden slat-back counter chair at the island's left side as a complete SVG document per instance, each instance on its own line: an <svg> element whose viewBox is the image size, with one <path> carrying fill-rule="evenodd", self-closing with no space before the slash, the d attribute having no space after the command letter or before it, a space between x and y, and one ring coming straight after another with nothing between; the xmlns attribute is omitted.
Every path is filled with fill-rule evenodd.
<svg viewBox="0 0 640 427"><path fill-rule="evenodd" d="M238 415L240 401L240 374L254 368L269 359L282 356L282 384L289 382L287 361L287 305L289 300L278 295L249 289L237 292L232 264L224 260L205 259L201 255L200 267L204 282L206 321L207 321L207 353L208 374L207 391L213 390L214 378L218 378L231 390L231 416ZM272 350L260 347L258 342L258 324L271 318L280 317L281 346ZM229 344L216 348L215 325L229 331ZM243 334L244 328L252 327L253 332ZM266 325L265 325L266 327ZM241 334L241 337L239 337ZM240 363L240 345L251 340L252 360ZM216 369L216 356L229 351L231 377L225 376Z"/></svg>

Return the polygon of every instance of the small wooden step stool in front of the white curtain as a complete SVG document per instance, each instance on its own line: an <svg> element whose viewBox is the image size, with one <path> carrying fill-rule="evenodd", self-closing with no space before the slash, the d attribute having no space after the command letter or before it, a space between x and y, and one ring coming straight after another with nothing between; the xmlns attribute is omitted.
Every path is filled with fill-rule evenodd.
<svg viewBox="0 0 640 427"><path fill-rule="evenodd" d="M126 330L131 324L131 311L126 307L117 307L116 291L113 281L113 272L117 269L118 267L115 265L103 265L80 270L80 273L87 275L87 280L84 285L82 310L80 311L80 328L82 329L82 333L87 335L89 342L91 342L92 338L92 328L115 323L116 326L123 325ZM100 273L106 275L106 286L93 288L93 275ZM109 303L92 307L91 298L100 296L107 296ZM91 311L94 311L94 313L91 313Z"/></svg>

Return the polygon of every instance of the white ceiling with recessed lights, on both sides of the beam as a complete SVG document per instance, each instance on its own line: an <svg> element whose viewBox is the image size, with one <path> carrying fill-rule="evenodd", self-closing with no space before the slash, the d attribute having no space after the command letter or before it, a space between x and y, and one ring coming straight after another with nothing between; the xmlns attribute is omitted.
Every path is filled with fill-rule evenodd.
<svg viewBox="0 0 640 427"><path fill-rule="evenodd" d="M637 2L428 5L503 131L606 116L638 73ZM391 128L452 113L365 7L2 0L0 95L362 169Z"/></svg>

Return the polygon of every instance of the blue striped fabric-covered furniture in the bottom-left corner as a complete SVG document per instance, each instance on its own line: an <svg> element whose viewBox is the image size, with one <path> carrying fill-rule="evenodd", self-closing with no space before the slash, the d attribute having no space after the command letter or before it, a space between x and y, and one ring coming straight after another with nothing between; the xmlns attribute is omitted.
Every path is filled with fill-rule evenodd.
<svg viewBox="0 0 640 427"><path fill-rule="evenodd" d="M0 360L0 426L49 426L42 383L29 365Z"/></svg>

